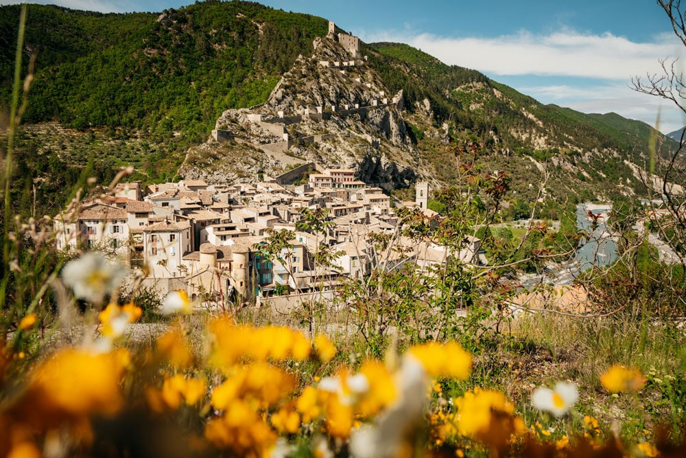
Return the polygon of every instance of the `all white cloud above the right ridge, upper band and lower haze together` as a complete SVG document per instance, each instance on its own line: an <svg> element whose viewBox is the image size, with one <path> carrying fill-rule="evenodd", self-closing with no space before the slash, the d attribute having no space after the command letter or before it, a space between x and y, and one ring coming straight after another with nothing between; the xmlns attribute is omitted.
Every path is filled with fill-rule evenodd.
<svg viewBox="0 0 686 458"><path fill-rule="evenodd" d="M551 34L521 31L489 38L446 38L432 34L381 32L365 41L395 41L421 49L449 65L460 65L498 76L524 77L515 89L542 103L555 103L584 113L618 113L668 133L684 125L683 113L670 102L632 91L632 78L662 74L661 59L679 58L676 71L685 71L686 49L673 34L659 34L648 43L624 36L583 34L564 27ZM579 84L545 84L537 80L567 77ZM589 86L593 78L600 84ZM584 82L586 80L587 82Z"/></svg>

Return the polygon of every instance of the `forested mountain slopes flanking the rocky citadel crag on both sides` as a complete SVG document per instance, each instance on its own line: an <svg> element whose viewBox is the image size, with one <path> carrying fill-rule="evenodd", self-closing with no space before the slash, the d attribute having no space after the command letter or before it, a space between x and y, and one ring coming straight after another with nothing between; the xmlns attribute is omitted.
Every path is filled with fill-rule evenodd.
<svg viewBox="0 0 686 458"><path fill-rule="evenodd" d="M0 7L3 111L10 100L19 9ZM326 19L246 1L202 1L135 14L29 5L24 73L29 56L36 61L22 137L23 147L33 148L33 154L25 157L48 157L43 162L54 164L52 172L60 163L82 168L91 159L95 169L105 172L134 165L138 178L171 179L189 147L196 156L204 154L198 146L222 113L267 102L284 73L311 58L314 38L326 34ZM363 43L362 53L368 56L368 78L379 91L392 95L402 90L404 108L392 117L401 122L408 143L390 150L382 142L376 153L386 164L403 164L405 178L394 181L398 185L407 185L413 175L451 183L456 173L453 146L477 142L485 167L508 170L520 179L515 186L521 198L536 198L542 170L551 177L544 192L556 199L630 196L643 190L635 168L647 161L652 132L647 124L614 113L585 115L539 104L482 73L445 65L407 45ZM309 83L292 82L284 87L295 100ZM332 93L347 90L346 82L331 84ZM309 131L318 133L322 126ZM355 132L359 126L339 124L333 130L339 138L346 132L362 135ZM387 132L377 134L388 137ZM364 135L375 133L366 130ZM663 139L661 153L674 145ZM294 154L335 163L331 154L342 147L324 144ZM198 163L244 152L224 146L208 154L210 159ZM351 155L345 161L359 161L359 172L366 174L368 157ZM272 159L263 162L273 170L284 165ZM23 168L38 167L27 163ZM38 178L32 177L34 182Z"/></svg>

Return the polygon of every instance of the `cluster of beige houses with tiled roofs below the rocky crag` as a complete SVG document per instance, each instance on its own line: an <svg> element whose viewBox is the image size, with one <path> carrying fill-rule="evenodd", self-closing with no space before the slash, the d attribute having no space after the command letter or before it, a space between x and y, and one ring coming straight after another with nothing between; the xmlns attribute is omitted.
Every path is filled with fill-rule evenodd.
<svg viewBox="0 0 686 458"><path fill-rule="evenodd" d="M416 201L401 203L438 220L427 209L429 185L419 183ZM391 198L378 187L355 180L353 170L310 174L309 183L281 185L263 181L208 185L202 180L149 185L123 183L111 195L56 216L58 249L88 247L143 268L144 285L158 295L186 290L191 299L252 301L275 294L331 290L346 277L364 277L372 268L419 268L440 264L450 255L484 262L479 240L465 240L460 253L430 242L416 244L398 236L399 217ZM325 234L300 230L303 210L323 211ZM323 220L322 220L323 222ZM270 231L292 231L287 248L261 259ZM398 253L381 260L372 234L397 238ZM338 253L330 266L316 266L320 247ZM279 259L281 261L279 261ZM259 300L259 299L258 299Z"/></svg>

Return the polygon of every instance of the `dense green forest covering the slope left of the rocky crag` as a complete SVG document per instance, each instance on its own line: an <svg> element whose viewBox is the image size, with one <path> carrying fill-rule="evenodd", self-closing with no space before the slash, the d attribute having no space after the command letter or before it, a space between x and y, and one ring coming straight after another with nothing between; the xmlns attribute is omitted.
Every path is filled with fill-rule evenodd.
<svg viewBox="0 0 686 458"><path fill-rule="evenodd" d="M16 43L18 11L0 8L0 43ZM198 143L226 108L264 102L298 54L311 52L312 38L326 33L324 19L244 1L158 16L30 5L25 46L36 53L36 71L25 120L121 126L158 139L180 132ZM8 49L2 64L11 62ZM7 100L12 66L0 68Z"/></svg>

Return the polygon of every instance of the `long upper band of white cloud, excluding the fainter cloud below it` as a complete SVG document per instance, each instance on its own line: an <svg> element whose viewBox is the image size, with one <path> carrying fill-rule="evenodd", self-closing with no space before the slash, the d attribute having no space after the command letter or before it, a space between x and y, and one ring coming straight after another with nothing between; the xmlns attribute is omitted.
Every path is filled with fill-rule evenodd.
<svg viewBox="0 0 686 458"><path fill-rule="evenodd" d="M460 65L498 75L582 76L628 80L659 71L659 59L675 57L683 45L671 35L634 43L613 34L562 30L547 35L522 31L491 38L445 38L432 34L386 32L370 41L400 41Z"/></svg>

